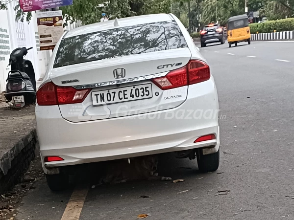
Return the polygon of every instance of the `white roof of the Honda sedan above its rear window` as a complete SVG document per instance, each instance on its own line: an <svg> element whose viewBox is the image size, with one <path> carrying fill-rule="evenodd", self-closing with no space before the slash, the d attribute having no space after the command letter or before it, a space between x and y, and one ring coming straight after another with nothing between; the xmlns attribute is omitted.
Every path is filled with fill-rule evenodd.
<svg viewBox="0 0 294 220"><path fill-rule="evenodd" d="M93 24L77 27L70 30L68 33L66 33L64 38L93 33L93 32L102 31L102 30L114 29L118 27L125 27L125 26L132 26L137 24L153 23L153 22L166 22L166 21L172 21L172 20L173 18L169 14L134 16L129 18L118 19L119 26L114 26L115 20L110 20L107 22L98 22L98 23L93 23Z"/></svg>

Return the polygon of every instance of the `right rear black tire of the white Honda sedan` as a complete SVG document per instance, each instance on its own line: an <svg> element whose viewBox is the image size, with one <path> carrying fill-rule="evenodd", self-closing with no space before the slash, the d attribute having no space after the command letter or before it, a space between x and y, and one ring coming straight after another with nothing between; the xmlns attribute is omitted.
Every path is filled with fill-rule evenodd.
<svg viewBox="0 0 294 220"><path fill-rule="evenodd" d="M202 149L197 149L197 164L201 173L213 172L219 169L220 149L217 153L203 155Z"/></svg>

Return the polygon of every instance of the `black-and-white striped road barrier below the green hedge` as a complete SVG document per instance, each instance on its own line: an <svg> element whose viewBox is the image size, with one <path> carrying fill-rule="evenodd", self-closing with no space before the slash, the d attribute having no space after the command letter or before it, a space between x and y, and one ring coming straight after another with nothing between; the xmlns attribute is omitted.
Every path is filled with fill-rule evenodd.
<svg viewBox="0 0 294 220"><path fill-rule="evenodd" d="M281 31L274 33L251 34L251 41L281 41L294 40L294 31Z"/></svg>

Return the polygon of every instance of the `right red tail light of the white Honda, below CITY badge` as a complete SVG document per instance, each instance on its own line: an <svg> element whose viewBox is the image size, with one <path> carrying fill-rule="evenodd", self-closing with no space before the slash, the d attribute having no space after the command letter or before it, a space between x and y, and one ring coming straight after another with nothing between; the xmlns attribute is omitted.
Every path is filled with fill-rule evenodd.
<svg viewBox="0 0 294 220"><path fill-rule="evenodd" d="M186 66L170 71L166 76L152 79L162 90L200 83L210 79L210 69L199 60L191 60Z"/></svg>

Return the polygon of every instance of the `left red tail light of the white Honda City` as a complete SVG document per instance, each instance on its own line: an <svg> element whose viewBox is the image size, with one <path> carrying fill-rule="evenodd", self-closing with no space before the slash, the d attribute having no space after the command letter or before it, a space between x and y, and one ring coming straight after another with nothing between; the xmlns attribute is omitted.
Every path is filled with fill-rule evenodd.
<svg viewBox="0 0 294 220"><path fill-rule="evenodd" d="M90 89L78 90L73 87L59 87L50 82L37 91L37 102L39 106L81 103L89 92Z"/></svg>

